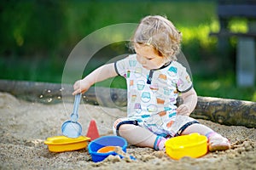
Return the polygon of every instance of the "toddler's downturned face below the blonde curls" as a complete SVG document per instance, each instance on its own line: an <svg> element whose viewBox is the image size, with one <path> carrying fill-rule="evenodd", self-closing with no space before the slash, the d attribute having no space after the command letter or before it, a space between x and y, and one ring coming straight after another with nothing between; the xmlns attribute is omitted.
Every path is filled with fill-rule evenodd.
<svg viewBox="0 0 256 170"><path fill-rule="evenodd" d="M143 65L145 69L153 70L159 69L166 64L166 59L150 45L135 45L135 51L137 53L138 62Z"/></svg>

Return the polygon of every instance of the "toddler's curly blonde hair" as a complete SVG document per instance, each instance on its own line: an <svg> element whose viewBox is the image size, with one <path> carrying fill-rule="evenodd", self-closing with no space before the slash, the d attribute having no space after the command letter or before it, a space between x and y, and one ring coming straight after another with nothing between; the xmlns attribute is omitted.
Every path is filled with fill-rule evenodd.
<svg viewBox="0 0 256 170"><path fill-rule="evenodd" d="M146 16L131 37L131 48L139 45L153 46L166 62L177 60L181 50L182 34L170 20L160 15Z"/></svg>

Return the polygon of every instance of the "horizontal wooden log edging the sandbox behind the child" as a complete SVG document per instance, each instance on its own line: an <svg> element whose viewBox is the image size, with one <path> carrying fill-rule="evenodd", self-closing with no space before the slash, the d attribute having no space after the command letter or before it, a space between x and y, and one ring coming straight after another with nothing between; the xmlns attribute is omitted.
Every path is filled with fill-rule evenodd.
<svg viewBox="0 0 256 170"><path fill-rule="evenodd" d="M0 80L0 92L18 99L43 104L73 102L73 85L49 82ZM83 102L125 109L126 90L119 88L91 87L83 94ZM181 103L178 99L177 105ZM256 127L256 102L198 96L192 117L210 120L229 126Z"/></svg>

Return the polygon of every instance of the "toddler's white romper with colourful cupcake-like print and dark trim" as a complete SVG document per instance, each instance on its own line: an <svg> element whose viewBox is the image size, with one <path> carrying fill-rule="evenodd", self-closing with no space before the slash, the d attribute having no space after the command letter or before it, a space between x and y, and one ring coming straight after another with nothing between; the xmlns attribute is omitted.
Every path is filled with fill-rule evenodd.
<svg viewBox="0 0 256 170"><path fill-rule="evenodd" d="M177 116L178 93L192 88L186 68L177 61L149 71L137 61L137 54L131 54L115 62L115 69L127 83L127 117L118 122L136 121L157 135L174 136L180 127L195 121L189 116Z"/></svg>

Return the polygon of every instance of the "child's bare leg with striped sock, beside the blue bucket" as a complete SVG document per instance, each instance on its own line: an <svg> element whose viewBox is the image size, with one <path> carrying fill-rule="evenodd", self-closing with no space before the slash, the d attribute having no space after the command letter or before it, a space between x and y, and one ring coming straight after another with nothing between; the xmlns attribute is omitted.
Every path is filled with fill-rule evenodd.
<svg viewBox="0 0 256 170"><path fill-rule="evenodd" d="M128 143L142 147L150 147L155 150L162 150L166 139L157 136L148 129L132 124L123 124L119 127L119 135L125 138Z"/></svg>

